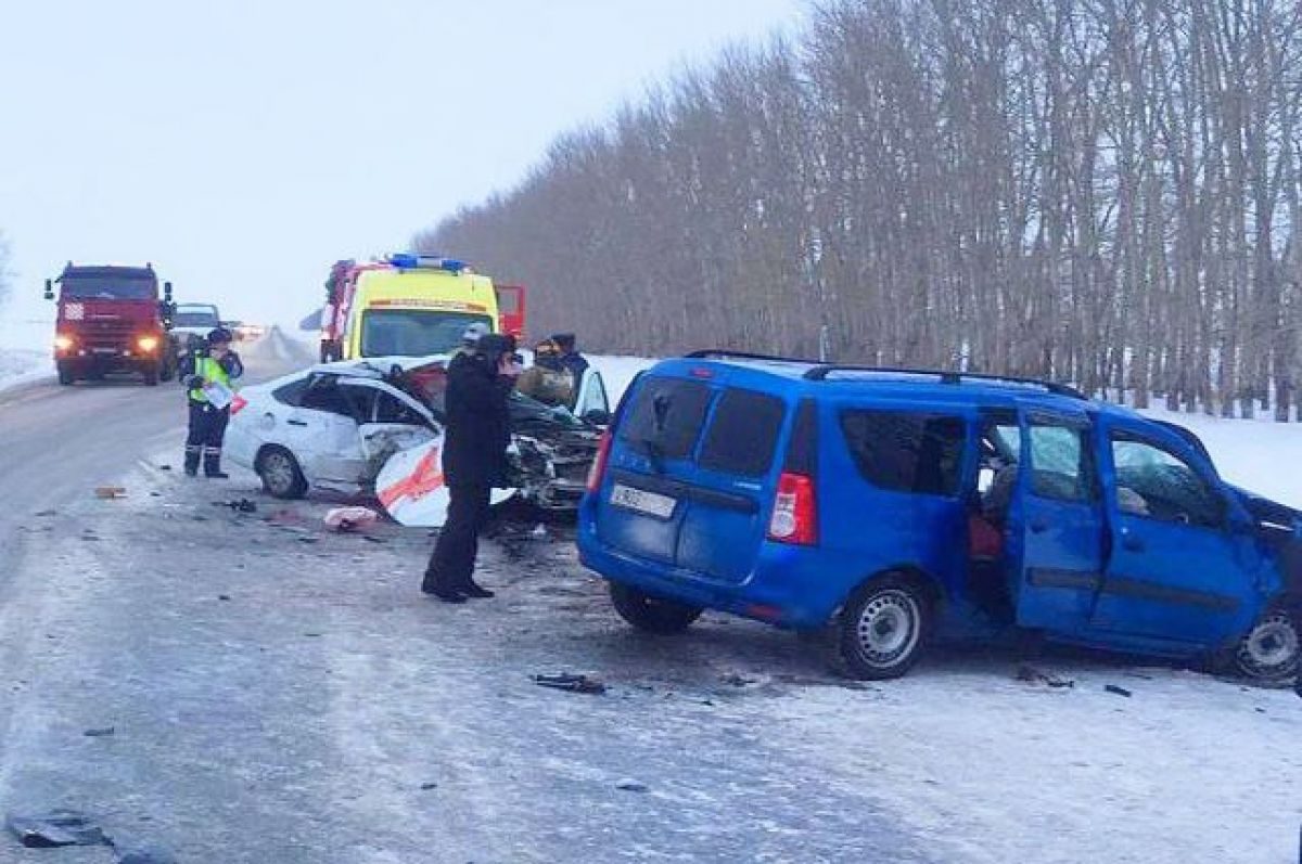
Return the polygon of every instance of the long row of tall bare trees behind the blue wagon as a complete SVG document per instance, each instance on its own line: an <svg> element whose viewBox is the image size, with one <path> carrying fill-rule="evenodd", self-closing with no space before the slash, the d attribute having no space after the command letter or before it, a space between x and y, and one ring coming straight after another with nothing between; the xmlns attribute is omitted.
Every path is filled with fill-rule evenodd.
<svg viewBox="0 0 1302 864"><path fill-rule="evenodd" d="M534 332L1289 419L1297 0L829 0L418 237Z"/></svg>

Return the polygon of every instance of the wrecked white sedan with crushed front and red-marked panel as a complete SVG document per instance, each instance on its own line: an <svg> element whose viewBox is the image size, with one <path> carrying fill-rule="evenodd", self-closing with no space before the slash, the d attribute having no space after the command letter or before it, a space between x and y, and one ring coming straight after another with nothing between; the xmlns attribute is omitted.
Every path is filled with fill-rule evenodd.
<svg viewBox="0 0 1302 864"><path fill-rule="evenodd" d="M243 389L232 405L227 457L277 498L311 489L374 493L395 519L440 526L445 357L327 363ZM574 510L609 418L602 376L583 376L574 410L512 394L512 463L519 494ZM578 414L579 416L575 416ZM581 419L583 418L583 419Z"/></svg>

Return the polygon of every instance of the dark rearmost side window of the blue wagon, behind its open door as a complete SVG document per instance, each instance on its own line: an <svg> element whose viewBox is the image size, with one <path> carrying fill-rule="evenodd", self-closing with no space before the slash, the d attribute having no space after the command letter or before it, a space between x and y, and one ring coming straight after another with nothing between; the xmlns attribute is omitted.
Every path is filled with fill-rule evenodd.
<svg viewBox="0 0 1302 864"><path fill-rule="evenodd" d="M849 410L841 432L859 474L893 492L958 493L966 429L962 418L911 411Z"/></svg>

